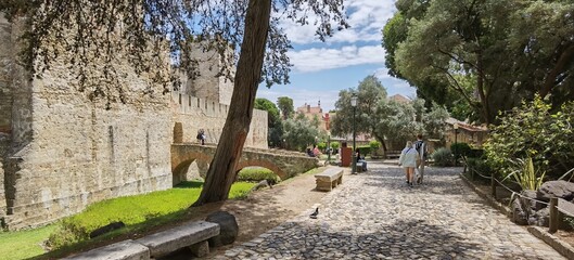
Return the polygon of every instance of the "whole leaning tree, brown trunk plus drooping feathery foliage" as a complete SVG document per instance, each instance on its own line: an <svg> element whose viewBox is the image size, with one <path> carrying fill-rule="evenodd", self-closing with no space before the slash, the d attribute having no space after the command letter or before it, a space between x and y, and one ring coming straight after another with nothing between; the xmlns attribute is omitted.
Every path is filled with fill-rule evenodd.
<svg viewBox="0 0 574 260"><path fill-rule="evenodd" d="M89 72L103 69L106 81L118 82L123 74L114 63L117 53L130 53L127 60L135 70L150 74L164 86L164 92L169 91L170 79L177 78L156 74L164 70L158 68L171 65L167 61L193 75L197 61L190 58L195 49L191 43L203 44L203 49L218 51L222 60L229 58L222 63L220 74L234 77L232 109L195 206L227 199L250 129L258 83L288 81L286 49L291 44L279 17L308 24L308 13L316 14L316 34L321 40L335 29L331 22L339 25L337 29L348 26L340 0L1 1L0 12L10 20L27 16L21 60L33 76L41 76L56 61L64 63L77 68L71 72L71 78L78 79L72 86L107 104L127 102L130 90L124 84L102 84L102 78L91 77ZM59 40L67 34L74 37ZM165 57L166 47L171 58ZM233 50L231 55L229 50ZM234 74L232 65L237 65ZM142 94L153 91L144 89Z"/></svg>

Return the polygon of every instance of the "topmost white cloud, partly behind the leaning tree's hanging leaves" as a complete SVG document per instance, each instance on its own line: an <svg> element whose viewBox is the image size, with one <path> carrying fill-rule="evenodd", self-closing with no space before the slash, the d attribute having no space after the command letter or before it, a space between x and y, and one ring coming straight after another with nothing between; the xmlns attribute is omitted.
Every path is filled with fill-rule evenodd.
<svg viewBox="0 0 574 260"><path fill-rule="evenodd" d="M333 37L327 39L327 43L380 42L382 40L381 30L396 11L394 2L394 0L345 0L347 23L350 28L335 31ZM291 21L284 21L282 26L293 43L316 43L320 41L315 36L316 26L312 25L315 18L315 14L309 15L310 25L301 26Z"/></svg>

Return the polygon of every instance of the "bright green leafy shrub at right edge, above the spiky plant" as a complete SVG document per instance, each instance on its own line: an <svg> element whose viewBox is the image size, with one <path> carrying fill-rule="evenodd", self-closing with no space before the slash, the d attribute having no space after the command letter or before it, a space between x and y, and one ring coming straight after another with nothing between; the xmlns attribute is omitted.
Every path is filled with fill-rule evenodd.
<svg viewBox="0 0 574 260"><path fill-rule="evenodd" d="M500 123L492 128L484 145L488 162L505 177L515 170L512 160L531 157L534 166L552 177L574 167L574 103L557 112L539 96L523 102L507 114L499 114Z"/></svg>

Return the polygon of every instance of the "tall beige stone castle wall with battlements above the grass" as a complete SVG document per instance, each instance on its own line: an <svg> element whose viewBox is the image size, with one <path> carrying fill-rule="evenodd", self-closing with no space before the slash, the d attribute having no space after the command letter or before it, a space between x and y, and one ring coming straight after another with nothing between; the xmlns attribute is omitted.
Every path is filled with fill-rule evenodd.
<svg viewBox="0 0 574 260"><path fill-rule="evenodd" d="M49 223L102 199L171 187L176 122L183 125L183 141L195 141L202 128L208 142L218 142L229 86L218 88L226 93L215 101L179 92L142 95L145 87L163 89L118 60L127 75L120 83L130 92L126 104L107 109L75 89L66 64L56 62L30 81L15 63L17 26L0 20L0 219L11 230ZM267 148L266 112L254 110L245 146Z"/></svg>

